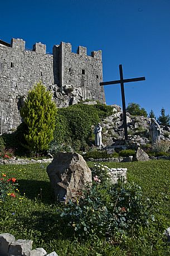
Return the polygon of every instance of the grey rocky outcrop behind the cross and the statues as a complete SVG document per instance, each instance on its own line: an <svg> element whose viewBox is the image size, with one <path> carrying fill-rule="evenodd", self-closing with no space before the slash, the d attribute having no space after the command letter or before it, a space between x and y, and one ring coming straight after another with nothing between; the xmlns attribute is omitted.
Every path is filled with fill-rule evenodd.
<svg viewBox="0 0 170 256"><path fill-rule="evenodd" d="M113 114L101 121L103 128L104 145L124 144L123 111L120 106L113 106ZM150 143L149 138L150 118L143 116L131 116L127 112L128 144L145 145ZM161 140L170 141L169 127L161 127Z"/></svg>

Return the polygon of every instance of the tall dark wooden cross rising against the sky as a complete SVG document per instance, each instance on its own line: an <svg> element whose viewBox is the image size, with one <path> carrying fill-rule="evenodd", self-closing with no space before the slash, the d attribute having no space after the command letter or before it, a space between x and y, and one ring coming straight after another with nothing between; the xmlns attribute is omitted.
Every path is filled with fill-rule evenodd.
<svg viewBox="0 0 170 256"><path fill-rule="evenodd" d="M110 81L110 82L102 82L102 83L100 83L100 86L106 86L108 84L120 83L121 93L122 93L124 136L125 136L125 140L128 140L127 113L126 113L125 96L124 96L124 83L142 81L142 80L145 80L145 77L123 79L122 65L119 65L119 72L120 72L120 80L114 80L114 81Z"/></svg>

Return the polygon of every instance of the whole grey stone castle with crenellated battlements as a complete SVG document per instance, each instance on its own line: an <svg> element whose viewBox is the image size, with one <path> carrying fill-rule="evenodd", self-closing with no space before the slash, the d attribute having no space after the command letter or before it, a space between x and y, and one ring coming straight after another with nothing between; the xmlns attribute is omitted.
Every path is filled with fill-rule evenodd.
<svg viewBox="0 0 170 256"><path fill-rule="evenodd" d="M40 80L58 107L84 99L105 103L104 89L99 85L103 81L100 50L88 56L87 49L79 46L77 53L72 53L71 44L61 42L48 54L41 42L28 50L22 39L13 38L11 44L0 40L0 134L21 123L20 108Z"/></svg>

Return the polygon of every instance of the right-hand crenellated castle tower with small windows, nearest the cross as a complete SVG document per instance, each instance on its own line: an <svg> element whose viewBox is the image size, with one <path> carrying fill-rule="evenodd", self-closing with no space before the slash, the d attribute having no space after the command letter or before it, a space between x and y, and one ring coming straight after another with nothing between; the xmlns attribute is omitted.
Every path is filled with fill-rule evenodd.
<svg viewBox="0 0 170 256"><path fill-rule="evenodd" d="M60 60L56 62L56 67L60 66L60 86L80 88L82 99L98 99L105 103L104 89L99 85L103 81L101 51L93 51L88 56L87 49L79 46L77 53L72 53L71 44L61 42L54 46L54 52Z"/></svg>

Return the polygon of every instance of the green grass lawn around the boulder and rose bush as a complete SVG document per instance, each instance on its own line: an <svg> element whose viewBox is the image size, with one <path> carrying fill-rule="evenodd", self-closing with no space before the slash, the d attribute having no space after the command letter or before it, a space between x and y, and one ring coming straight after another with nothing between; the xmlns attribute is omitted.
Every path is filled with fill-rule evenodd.
<svg viewBox="0 0 170 256"><path fill-rule="evenodd" d="M170 162L103 163L108 167L128 168L128 181L142 187L143 195L153 202L157 224L140 230L138 238L124 238L120 243L107 243L98 238L77 240L60 229L56 212L60 209L52 199L47 164L0 165L0 176L16 178L19 192L0 203L0 234L11 233L16 239L32 239L33 248L43 247L62 255L170 255L160 226L170 226ZM88 162L89 167L94 163ZM0 178L1 178L0 177Z"/></svg>

